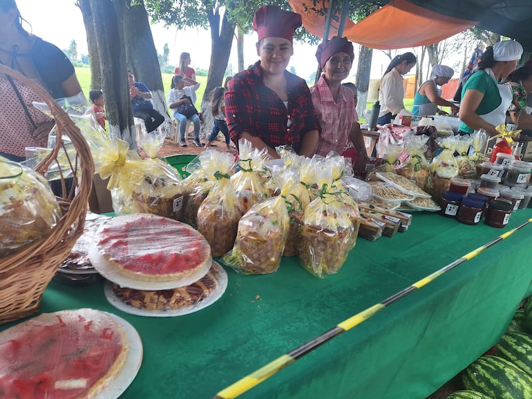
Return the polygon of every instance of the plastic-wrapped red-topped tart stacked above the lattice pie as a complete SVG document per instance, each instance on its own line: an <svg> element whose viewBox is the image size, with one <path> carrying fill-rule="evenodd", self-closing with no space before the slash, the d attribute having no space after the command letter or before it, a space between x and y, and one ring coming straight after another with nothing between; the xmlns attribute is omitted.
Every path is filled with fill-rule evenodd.
<svg viewBox="0 0 532 399"><path fill-rule="evenodd" d="M95 267L105 263L106 277L117 273L141 282L196 281L211 266L205 237L167 217L148 213L113 217L99 228L96 240L95 251L103 262Z"/></svg>

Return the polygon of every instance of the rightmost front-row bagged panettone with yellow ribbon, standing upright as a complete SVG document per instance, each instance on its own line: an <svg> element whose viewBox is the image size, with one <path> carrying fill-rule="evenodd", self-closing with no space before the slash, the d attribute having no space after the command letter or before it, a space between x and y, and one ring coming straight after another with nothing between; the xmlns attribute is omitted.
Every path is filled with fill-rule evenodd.
<svg viewBox="0 0 532 399"><path fill-rule="evenodd" d="M348 195L341 195L332 178L332 171L318 171L319 197L303 214L301 244L298 258L307 271L324 278L343 265L357 235L352 219L353 208L344 203Z"/></svg>

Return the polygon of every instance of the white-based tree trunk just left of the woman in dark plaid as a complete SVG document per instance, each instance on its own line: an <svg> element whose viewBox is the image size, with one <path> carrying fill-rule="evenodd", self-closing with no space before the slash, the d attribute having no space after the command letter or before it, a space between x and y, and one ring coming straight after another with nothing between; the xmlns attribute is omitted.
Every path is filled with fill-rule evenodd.
<svg viewBox="0 0 532 399"><path fill-rule="evenodd" d="M231 5L227 5L230 7ZM224 13L222 26L220 28L220 12L218 10L209 10L207 12L209 26L211 27L211 60L209 62L209 76L205 86L205 94L201 101L201 113L203 123L201 126L201 137L205 138L211 134L213 126L213 116L211 113L210 97L212 90L217 86L222 86L223 77L229 55L231 55L231 46L233 46L233 35L235 24L227 20L227 14Z"/></svg>

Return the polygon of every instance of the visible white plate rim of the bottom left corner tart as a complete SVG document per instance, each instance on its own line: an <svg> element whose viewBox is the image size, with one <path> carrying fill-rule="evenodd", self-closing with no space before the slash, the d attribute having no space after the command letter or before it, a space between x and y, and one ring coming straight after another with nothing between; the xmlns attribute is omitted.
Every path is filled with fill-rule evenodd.
<svg viewBox="0 0 532 399"><path fill-rule="evenodd" d="M108 382L104 391L97 396L97 399L117 399L137 376L140 364L142 363L142 341L135 327L129 324L129 322L126 322L126 320L113 313L103 313L106 313L106 315L120 324L122 329L124 329L126 340L129 342L129 352L127 353L122 369L120 369L113 380Z"/></svg>

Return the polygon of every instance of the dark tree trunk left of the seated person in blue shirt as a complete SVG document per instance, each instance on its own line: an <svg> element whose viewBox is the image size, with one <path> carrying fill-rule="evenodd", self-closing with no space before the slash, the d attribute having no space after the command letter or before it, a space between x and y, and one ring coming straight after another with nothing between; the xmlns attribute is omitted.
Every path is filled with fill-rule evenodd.
<svg viewBox="0 0 532 399"><path fill-rule="evenodd" d="M93 14L94 26L97 27L95 37L100 69L105 71L102 73L102 90L106 95L109 133L111 137L129 142L129 148L137 150L126 73L124 30L122 29L124 1L88 1Z"/></svg>

